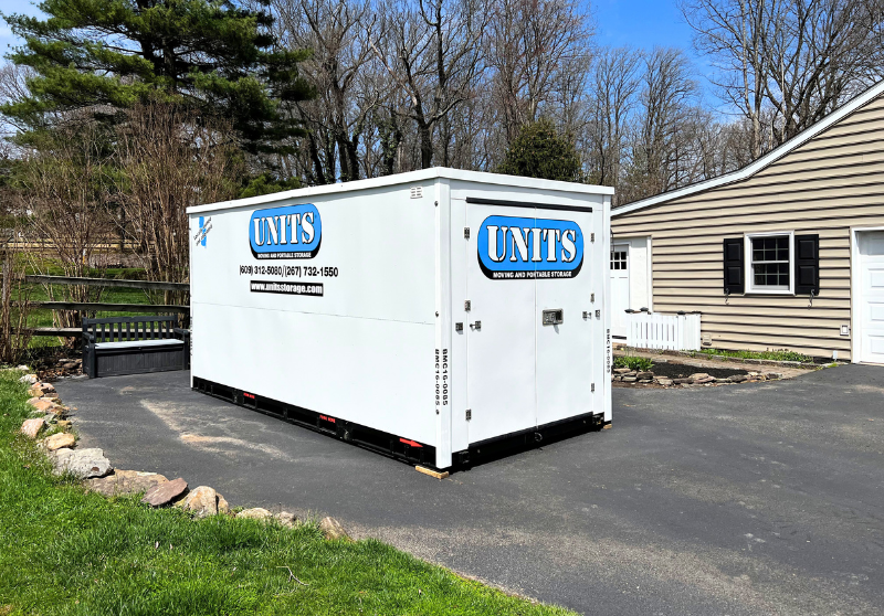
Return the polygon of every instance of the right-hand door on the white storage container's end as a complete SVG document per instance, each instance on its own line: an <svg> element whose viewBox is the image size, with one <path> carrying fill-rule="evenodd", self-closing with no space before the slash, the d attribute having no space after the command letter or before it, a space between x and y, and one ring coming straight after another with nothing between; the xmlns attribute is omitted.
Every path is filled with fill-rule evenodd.
<svg viewBox="0 0 884 616"><path fill-rule="evenodd" d="M592 263L592 214L586 211L537 210L537 226L560 227L556 259L537 272L537 424L543 426L592 412L594 328L602 327L602 280L608 263ZM547 219L549 220L547 222ZM606 255L607 256L607 255ZM593 302L592 293L599 294ZM596 338L599 340L600 338ZM603 383L597 383L602 386Z"/></svg>

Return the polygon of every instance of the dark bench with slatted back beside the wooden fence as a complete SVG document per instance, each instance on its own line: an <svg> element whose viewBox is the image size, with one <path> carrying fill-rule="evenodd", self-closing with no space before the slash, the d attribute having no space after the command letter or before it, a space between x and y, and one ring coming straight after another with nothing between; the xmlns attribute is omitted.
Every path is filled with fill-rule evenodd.
<svg viewBox="0 0 884 616"><path fill-rule="evenodd" d="M190 368L190 332L175 317L83 319L83 372L90 379Z"/></svg>

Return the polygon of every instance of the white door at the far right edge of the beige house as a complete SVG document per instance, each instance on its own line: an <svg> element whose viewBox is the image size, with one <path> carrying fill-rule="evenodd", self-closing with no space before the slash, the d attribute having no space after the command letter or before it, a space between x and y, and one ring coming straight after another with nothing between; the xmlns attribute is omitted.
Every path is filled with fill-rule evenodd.
<svg viewBox="0 0 884 616"><path fill-rule="evenodd" d="M857 234L860 361L884 363L884 232Z"/></svg>

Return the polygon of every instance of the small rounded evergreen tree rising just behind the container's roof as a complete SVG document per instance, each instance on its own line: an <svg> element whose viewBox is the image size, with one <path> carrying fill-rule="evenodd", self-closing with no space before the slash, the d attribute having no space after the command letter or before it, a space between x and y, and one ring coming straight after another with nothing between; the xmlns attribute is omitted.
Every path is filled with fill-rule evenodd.
<svg viewBox="0 0 884 616"><path fill-rule="evenodd" d="M547 118L522 127L497 172L565 182L582 180L577 148Z"/></svg>

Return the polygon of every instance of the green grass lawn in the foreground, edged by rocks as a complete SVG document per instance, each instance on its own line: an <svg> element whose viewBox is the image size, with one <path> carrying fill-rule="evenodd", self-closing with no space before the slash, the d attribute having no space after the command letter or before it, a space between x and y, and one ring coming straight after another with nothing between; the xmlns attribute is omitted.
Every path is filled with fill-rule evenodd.
<svg viewBox="0 0 884 616"><path fill-rule="evenodd" d="M18 376L0 372L0 615L571 614L314 524L191 520L86 493L18 436Z"/></svg>

